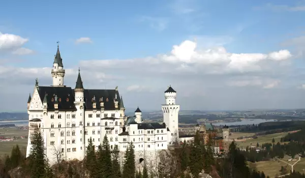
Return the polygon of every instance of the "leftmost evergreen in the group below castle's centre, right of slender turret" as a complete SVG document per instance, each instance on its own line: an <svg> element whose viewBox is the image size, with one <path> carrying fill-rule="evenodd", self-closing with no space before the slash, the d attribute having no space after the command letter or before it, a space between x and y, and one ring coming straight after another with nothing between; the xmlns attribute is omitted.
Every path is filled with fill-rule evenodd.
<svg viewBox="0 0 305 178"><path fill-rule="evenodd" d="M95 155L95 145L93 145L92 138L90 137L88 146L86 149L86 168L90 173L90 177L97 177L97 159Z"/></svg>

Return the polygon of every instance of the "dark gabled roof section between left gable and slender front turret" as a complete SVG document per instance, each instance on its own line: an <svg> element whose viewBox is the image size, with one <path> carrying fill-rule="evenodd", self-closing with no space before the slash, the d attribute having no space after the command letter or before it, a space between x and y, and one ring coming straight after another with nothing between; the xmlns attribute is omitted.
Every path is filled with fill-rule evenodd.
<svg viewBox="0 0 305 178"><path fill-rule="evenodd" d="M41 102L47 100L48 110L55 110L54 103L58 103L58 110L76 110L74 105L74 91L71 87L38 86ZM55 100L57 97L57 101Z"/></svg>

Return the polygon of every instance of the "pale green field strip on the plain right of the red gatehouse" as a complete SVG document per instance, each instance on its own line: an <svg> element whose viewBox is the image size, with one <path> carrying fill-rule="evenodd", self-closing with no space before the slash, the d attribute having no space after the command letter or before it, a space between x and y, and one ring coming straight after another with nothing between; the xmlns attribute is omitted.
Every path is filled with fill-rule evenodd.
<svg viewBox="0 0 305 178"><path fill-rule="evenodd" d="M246 136L246 134L248 134L248 133L245 133L245 135L242 135L242 133L240 133L240 136ZM263 143L272 143L272 138L275 138L275 141L277 143L278 141L281 140L281 137L284 137L287 134L288 134L288 132L281 132L281 133L258 136L258 138L256 138L256 139L250 138L250 139L242 140L242 141L235 139L235 141L236 141L237 146L239 146L239 147L256 146L257 143L259 143L259 145L261 145Z"/></svg>

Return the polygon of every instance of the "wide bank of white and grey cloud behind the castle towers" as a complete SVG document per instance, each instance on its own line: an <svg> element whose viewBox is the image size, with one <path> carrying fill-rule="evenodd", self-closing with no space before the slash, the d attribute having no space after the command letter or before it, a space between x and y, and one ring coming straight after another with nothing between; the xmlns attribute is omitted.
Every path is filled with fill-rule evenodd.
<svg viewBox="0 0 305 178"><path fill-rule="evenodd" d="M65 56L65 51L60 52ZM166 54L125 60L85 60L80 61L77 67L81 68L85 88L119 86L126 105L143 104L146 108L158 108L164 102L166 86L171 84L179 93L179 102L189 103L184 109L228 109L232 107L229 101L233 100L237 102L236 107L245 106L242 102L251 99L248 95L253 96L253 100L256 100L254 103L268 103L264 101L264 96L277 98L274 90L280 90L282 85L289 82L284 81L283 77L290 75L292 66L288 62L292 56L285 49L269 53L234 53L223 46L206 49L186 40L174 45ZM283 62L287 62L287 65L282 65ZM10 87L16 83L22 85L24 91L32 91L36 77L41 85L50 85L50 67L0 65L0 82L8 86L2 93L11 93L14 88L20 88ZM66 85L74 87L76 69L66 69ZM258 92L260 90L261 93ZM270 96L265 94L269 91ZM234 95L238 95L239 99L235 99ZM26 97L27 92L24 94L25 100ZM220 101L222 105L214 105ZM249 105L250 108L253 106Z"/></svg>

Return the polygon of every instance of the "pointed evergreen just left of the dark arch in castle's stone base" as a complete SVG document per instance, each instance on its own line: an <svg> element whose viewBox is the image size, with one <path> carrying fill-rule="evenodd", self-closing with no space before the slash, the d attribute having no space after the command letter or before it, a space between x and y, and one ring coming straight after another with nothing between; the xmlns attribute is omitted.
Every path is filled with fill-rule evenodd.
<svg viewBox="0 0 305 178"><path fill-rule="evenodd" d="M125 163L123 167L123 177L124 178L134 178L135 177L135 152L134 152L134 145L131 142L128 145L128 148L126 150L125 154Z"/></svg>

